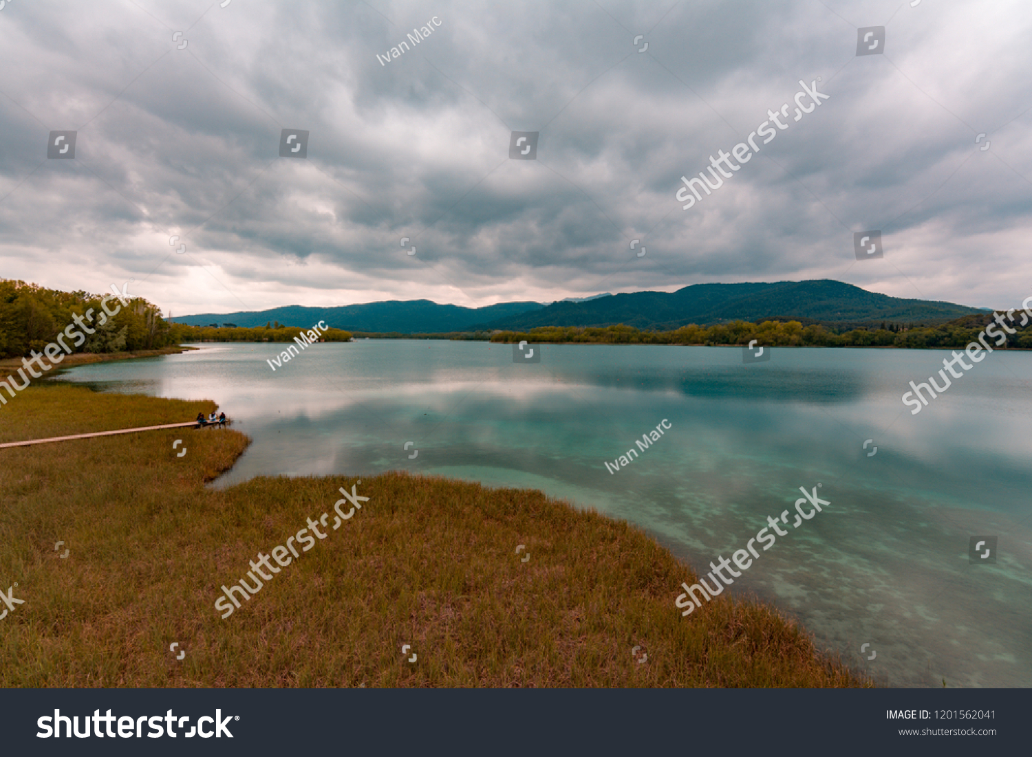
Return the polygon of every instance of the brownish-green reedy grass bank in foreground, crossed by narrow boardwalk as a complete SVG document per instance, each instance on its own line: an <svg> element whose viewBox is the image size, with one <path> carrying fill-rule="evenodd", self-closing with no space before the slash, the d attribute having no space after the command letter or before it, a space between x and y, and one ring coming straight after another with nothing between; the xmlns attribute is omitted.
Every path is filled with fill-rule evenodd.
<svg viewBox="0 0 1032 757"><path fill-rule="evenodd" d="M30 387L0 407L0 441L214 409ZM625 523L405 473L205 489L247 445L179 429L0 450L0 582L25 600L0 621L0 686L870 685L769 606L720 598L682 618L695 575ZM352 485L369 500L332 530ZM221 619L220 586L323 513L326 538Z"/></svg>

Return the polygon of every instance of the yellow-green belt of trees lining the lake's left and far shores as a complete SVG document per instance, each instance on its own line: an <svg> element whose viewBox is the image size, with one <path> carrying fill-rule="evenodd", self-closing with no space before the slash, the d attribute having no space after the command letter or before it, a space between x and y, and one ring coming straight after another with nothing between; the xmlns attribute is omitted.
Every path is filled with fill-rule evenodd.
<svg viewBox="0 0 1032 757"><path fill-rule="evenodd" d="M127 285L128 286L128 285ZM114 290L114 285L112 285ZM84 291L61 292L35 284L0 278L0 381L17 371L21 358L42 353L62 333L75 316L98 315L111 295ZM67 368L87 362L153 357L182 352L189 342L290 342L304 329L287 327L279 322L265 326L241 328L234 324L189 326L161 317L161 310L140 297L130 298L111 318L100 319L84 343L71 348ZM1022 319L1012 330L1000 331L997 349L1032 349L1032 324L1021 310ZM878 328L856 327L849 330L800 321L770 319L750 323L734 321L728 324L698 326L689 324L668 331L642 331L633 326L605 327L539 327L529 331L470 331L433 334L402 334L349 332L329 328L320 341L351 341L354 339L448 339L453 341L492 341L541 343L602 343L602 344L672 344L729 347L748 344L755 339L760 345L771 347L880 347L902 349L963 348L978 333L997 338L993 321L1000 324L1002 312L963 316L937 326L922 326L882 322ZM118 357L115 357L115 356ZM13 366L13 371L10 370ZM55 366L56 368L58 366ZM57 371L56 371L57 372Z"/></svg>

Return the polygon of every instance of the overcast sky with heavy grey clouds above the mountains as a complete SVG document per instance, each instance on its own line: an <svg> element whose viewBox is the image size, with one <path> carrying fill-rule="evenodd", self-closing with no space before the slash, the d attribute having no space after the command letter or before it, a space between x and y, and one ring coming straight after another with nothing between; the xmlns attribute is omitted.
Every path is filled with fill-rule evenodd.
<svg viewBox="0 0 1032 757"><path fill-rule="evenodd" d="M911 2L0 0L0 276L133 278L166 315L805 278L1013 307L1032 4ZM680 177L785 103L682 209ZM59 130L74 159L47 158Z"/></svg>

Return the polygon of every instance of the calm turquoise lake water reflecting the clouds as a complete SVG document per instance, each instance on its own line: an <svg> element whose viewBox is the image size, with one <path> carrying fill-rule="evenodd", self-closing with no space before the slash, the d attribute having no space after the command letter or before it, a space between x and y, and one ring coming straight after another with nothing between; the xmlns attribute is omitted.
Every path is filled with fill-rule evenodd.
<svg viewBox="0 0 1032 757"><path fill-rule="evenodd" d="M775 348L743 364L738 348L545 344L517 364L510 344L361 340L273 371L283 345L197 347L63 380L217 401L253 443L215 486L400 468L537 488L700 571L819 483L831 504L784 526L729 592L773 601L891 685L1032 685L1032 353L988 356L911 416L908 382L948 352ZM996 564L969 563L987 535Z"/></svg>

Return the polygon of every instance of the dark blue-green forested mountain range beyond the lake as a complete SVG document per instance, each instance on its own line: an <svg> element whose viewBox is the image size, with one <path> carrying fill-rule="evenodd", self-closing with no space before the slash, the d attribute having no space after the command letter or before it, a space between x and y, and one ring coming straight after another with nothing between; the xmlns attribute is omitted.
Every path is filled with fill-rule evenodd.
<svg viewBox="0 0 1032 757"><path fill-rule="evenodd" d="M309 328L325 321L348 331L432 334L454 331L526 331L538 326L612 326L668 330L687 324L708 326L729 321L795 320L830 326L880 324L882 321L935 325L985 312L950 302L902 299L821 278L772 284L695 284L676 292L598 295L579 301L503 302L486 307L439 305L429 300L369 302L340 307L289 305L270 310L199 314L173 319L207 326L232 323Z"/></svg>

